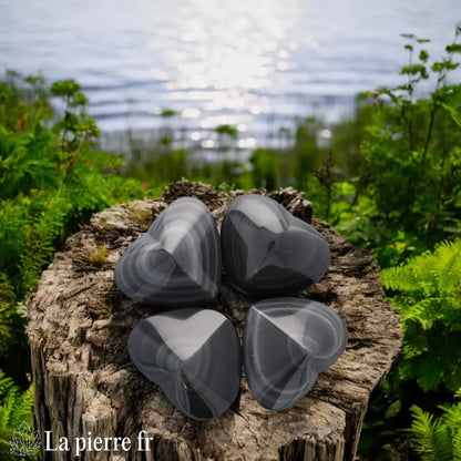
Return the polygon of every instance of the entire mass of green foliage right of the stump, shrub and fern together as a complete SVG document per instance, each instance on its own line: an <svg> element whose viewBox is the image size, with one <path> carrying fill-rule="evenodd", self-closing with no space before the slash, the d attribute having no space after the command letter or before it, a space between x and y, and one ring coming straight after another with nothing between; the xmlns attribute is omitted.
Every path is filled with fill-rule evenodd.
<svg viewBox="0 0 461 461"><path fill-rule="evenodd" d="M359 144L361 174L334 185L334 224L372 250L381 266L397 266L385 269L382 280L404 331L403 354L370 403L361 459L389 459L389 452L404 451L398 428L410 424L409 408L418 402L433 411L461 386L461 258L455 239L461 224L461 85L447 83L459 65L454 53L460 32L457 28L445 58L432 64L421 48L427 40L406 37L409 63L401 74L407 82L368 93L373 105L361 100L359 113L368 114ZM426 80L433 81L433 90L417 98ZM447 238L452 242L437 244Z"/></svg>

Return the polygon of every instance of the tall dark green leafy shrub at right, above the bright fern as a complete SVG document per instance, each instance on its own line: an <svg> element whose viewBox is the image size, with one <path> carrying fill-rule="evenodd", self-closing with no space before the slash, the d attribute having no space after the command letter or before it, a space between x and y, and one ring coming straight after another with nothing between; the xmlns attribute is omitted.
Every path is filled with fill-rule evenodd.
<svg viewBox="0 0 461 461"><path fill-rule="evenodd" d="M454 41L441 61L429 63L420 49L428 40L406 35L407 82L368 93L375 101L361 144L366 175L350 213L338 227L390 266L457 233L461 225L461 84L448 84L459 66ZM419 51L419 53L417 53ZM414 54L418 62L414 63ZM433 81L429 98L416 98L419 85ZM370 204L372 208L370 208ZM356 219L360 216L360 219Z"/></svg>

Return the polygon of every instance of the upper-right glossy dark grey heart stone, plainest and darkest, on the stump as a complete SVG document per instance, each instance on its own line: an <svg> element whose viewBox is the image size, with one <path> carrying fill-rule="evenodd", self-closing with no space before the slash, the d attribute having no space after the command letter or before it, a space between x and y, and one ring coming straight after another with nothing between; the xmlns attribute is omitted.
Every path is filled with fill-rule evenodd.
<svg viewBox="0 0 461 461"><path fill-rule="evenodd" d="M248 296L293 295L318 281L330 263L324 236L264 195L232 202L221 243L225 274Z"/></svg>

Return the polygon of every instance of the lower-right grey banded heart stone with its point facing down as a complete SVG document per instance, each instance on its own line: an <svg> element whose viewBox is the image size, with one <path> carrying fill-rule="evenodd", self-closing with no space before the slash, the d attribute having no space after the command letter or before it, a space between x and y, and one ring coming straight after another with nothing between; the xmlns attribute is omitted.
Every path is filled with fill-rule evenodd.
<svg viewBox="0 0 461 461"><path fill-rule="evenodd" d="M305 298L256 303L244 328L244 369L255 399L269 410L293 407L342 354L347 329L330 307Z"/></svg>

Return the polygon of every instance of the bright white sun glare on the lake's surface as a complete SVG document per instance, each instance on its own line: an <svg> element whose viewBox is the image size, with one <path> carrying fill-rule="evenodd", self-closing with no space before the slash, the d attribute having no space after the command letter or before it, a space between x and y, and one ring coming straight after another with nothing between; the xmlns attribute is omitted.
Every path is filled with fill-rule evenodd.
<svg viewBox="0 0 461 461"><path fill-rule="evenodd" d="M181 51L172 47L164 57L171 101L199 103L208 112L203 129L243 126L269 113L264 90L274 85L276 73L293 69L290 52L298 47L290 32L299 27L299 2L288 2L289 8L279 0L188 0L168 32L172 43L181 40ZM183 111L183 117L198 116Z"/></svg>

